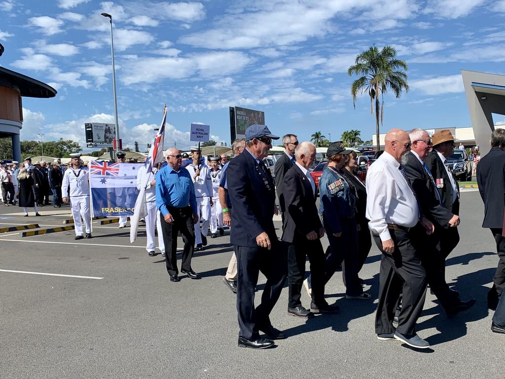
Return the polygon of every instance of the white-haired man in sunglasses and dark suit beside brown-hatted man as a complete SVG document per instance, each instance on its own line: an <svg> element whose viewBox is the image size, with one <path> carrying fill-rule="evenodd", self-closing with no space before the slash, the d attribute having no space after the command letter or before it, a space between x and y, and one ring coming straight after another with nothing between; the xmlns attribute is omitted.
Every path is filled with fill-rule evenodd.
<svg viewBox="0 0 505 379"><path fill-rule="evenodd" d="M443 132L434 134L435 142L438 142L441 136L452 138L448 130L449 134ZM450 251L444 251L441 248L448 245L456 246L458 243L457 226L460 224L460 217L452 213L453 207L447 209L443 206L443 198L436 186L436 181L431 170L424 162L428 158L432 144L428 132L423 129L413 129L409 133L409 137L412 143L411 151L408 154L408 161L403 167L405 167L405 171L421 202L423 214L435 225L435 232L429 236L426 235L422 226L417 225L414 227L413 231L418 236L418 241L413 242L419 244L419 250L424 252L421 261L426 270L426 277L431 291L440 301L447 316L453 317L475 304L474 299L461 301L458 292L450 290L445 281L445 258ZM437 146L439 145L437 144ZM437 155L437 153L434 152L434 155ZM456 231L448 229L455 229ZM449 242L445 245L440 244L445 239Z"/></svg>

